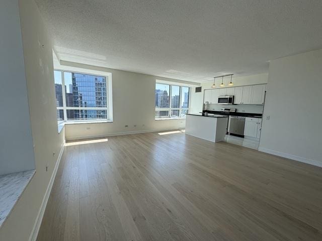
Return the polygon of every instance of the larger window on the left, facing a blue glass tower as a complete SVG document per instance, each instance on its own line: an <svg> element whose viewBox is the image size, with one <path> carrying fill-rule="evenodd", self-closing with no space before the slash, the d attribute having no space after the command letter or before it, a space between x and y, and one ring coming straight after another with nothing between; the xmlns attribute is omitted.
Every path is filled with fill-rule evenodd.
<svg viewBox="0 0 322 241"><path fill-rule="evenodd" d="M54 79L58 124L109 119L106 76L55 70Z"/></svg>

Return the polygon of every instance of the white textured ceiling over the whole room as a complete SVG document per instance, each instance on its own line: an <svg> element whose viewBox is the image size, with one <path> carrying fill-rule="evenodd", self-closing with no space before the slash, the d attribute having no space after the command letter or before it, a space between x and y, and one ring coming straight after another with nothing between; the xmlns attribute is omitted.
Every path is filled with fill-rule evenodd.
<svg viewBox="0 0 322 241"><path fill-rule="evenodd" d="M322 1L36 0L61 60L204 82L322 48Z"/></svg>

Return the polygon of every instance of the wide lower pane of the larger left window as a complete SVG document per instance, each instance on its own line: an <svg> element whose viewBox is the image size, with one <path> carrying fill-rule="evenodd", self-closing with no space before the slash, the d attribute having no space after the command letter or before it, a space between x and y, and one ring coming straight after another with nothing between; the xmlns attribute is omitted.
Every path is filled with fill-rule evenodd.
<svg viewBox="0 0 322 241"><path fill-rule="evenodd" d="M95 119L106 119L107 110L93 110L93 109L67 109L68 121L90 121Z"/></svg>

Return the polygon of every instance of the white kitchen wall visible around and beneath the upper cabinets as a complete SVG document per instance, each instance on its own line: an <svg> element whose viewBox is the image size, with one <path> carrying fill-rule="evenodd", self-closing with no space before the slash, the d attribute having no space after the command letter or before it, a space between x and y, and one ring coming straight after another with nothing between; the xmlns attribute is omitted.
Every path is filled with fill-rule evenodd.
<svg viewBox="0 0 322 241"><path fill-rule="evenodd" d="M268 81L268 73L264 73L264 74L255 74L255 75L249 75L249 76L240 76L240 77L233 77L232 78L232 82L233 82L233 86L243 86L243 85L251 85L251 84L266 84ZM230 82L230 77L224 77L224 84L227 87L228 83ZM216 78L216 86L219 86L221 83L221 78ZM209 82L203 82L201 83L202 86L202 91L201 93L195 93L195 91L192 92L192 101L191 101L191 113L198 113L202 111L202 104L203 104L203 93L205 89L211 89L211 85L213 84L213 81L209 81ZM220 88L220 87L217 87ZM209 106L210 110L212 110L213 108L215 110L220 109L222 106L220 105L215 105L212 104ZM225 105L224 107L228 107L227 105ZM249 113L261 113L261 112L257 112L260 108L258 105L249 105L249 106L239 106L239 104L237 105L233 105L232 108L237 108L238 112L239 109L244 109L245 112L249 112Z"/></svg>

